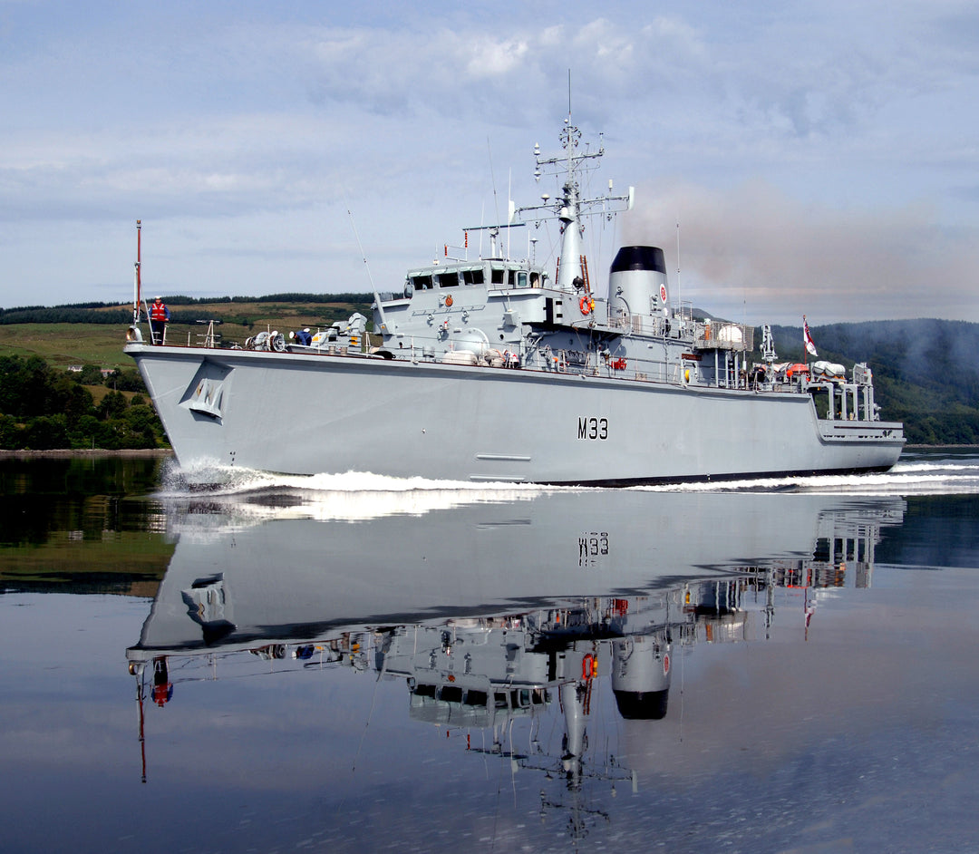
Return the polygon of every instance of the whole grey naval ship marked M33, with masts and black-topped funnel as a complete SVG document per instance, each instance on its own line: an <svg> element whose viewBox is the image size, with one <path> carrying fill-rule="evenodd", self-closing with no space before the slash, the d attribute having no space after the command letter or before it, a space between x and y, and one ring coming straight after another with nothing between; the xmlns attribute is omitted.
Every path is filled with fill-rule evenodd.
<svg viewBox="0 0 979 854"><path fill-rule="evenodd" d="M866 364L779 362L768 326L753 360L755 327L671 301L655 246L622 247L593 281L585 225L634 193L586 192L604 145L570 115L560 142L554 156L535 147L554 196L511 203L506 222L465 229L400 290L376 290L372 340L354 313L244 347L164 344L144 336L137 261L125 353L181 467L629 486L894 465L904 428L880 419ZM513 229L554 221L553 262L537 263L533 237L511 257ZM486 257L470 258L470 233Z"/></svg>

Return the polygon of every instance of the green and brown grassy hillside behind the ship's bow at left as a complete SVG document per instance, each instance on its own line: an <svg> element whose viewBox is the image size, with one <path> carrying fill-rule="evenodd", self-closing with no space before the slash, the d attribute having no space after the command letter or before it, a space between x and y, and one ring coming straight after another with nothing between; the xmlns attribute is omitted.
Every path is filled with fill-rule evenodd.
<svg viewBox="0 0 979 854"><path fill-rule="evenodd" d="M250 325L225 323L218 326L224 342L244 344L256 332L275 329L288 335L292 329L329 326L334 320L359 310L368 318L364 306L350 303L212 303L201 306L176 306L171 310L193 311L201 320L222 320L228 316L247 318ZM0 356L41 356L56 367L70 364L97 364L103 368L131 368L134 362L122 353L124 325L105 323L8 323L0 324ZM206 324L171 323L166 331L168 344L197 344L207 331ZM144 324L144 335L149 328Z"/></svg>

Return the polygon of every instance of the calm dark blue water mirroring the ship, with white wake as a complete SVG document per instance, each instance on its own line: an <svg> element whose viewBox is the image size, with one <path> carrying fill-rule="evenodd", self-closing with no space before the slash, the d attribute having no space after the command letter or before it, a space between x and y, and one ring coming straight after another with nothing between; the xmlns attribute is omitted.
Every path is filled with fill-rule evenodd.
<svg viewBox="0 0 979 854"><path fill-rule="evenodd" d="M962 851L979 454L628 491L0 460L4 851Z"/></svg>

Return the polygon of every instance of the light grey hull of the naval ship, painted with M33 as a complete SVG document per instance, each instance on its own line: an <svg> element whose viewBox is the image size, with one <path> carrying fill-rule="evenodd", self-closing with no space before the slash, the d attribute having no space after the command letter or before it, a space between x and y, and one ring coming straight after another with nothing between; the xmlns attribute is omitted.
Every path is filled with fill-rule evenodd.
<svg viewBox="0 0 979 854"><path fill-rule="evenodd" d="M143 343L125 352L185 468L627 485L886 470L904 444L901 424L821 420L792 393Z"/></svg>

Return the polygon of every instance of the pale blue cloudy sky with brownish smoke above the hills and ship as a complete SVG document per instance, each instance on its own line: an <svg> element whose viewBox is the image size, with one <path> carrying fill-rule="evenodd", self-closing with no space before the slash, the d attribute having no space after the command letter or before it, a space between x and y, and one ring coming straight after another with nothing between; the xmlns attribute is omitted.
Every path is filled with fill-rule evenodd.
<svg viewBox="0 0 979 854"><path fill-rule="evenodd" d="M962 0L0 0L0 307L131 302L137 219L152 295L399 291L553 195L569 104L635 187L587 228L599 289L653 244L732 319L979 322Z"/></svg>

